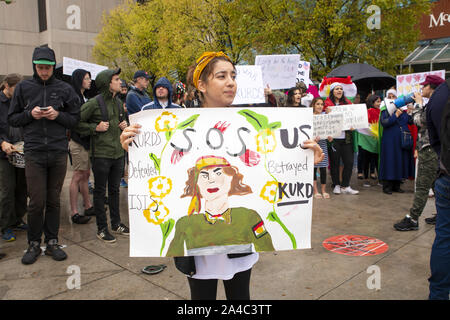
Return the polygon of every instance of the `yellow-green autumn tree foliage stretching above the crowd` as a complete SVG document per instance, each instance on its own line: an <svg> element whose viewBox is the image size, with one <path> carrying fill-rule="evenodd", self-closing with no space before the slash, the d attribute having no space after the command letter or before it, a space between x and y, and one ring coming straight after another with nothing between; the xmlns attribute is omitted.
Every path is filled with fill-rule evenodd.
<svg viewBox="0 0 450 320"><path fill-rule="evenodd" d="M371 5L380 9L380 28L369 28ZM152 83L183 81L202 52L219 50L237 64L299 53L316 79L355 62L394 74L429 10L428 0L128 0L104 17L93 55L127 79L144 69Z"/></svg>

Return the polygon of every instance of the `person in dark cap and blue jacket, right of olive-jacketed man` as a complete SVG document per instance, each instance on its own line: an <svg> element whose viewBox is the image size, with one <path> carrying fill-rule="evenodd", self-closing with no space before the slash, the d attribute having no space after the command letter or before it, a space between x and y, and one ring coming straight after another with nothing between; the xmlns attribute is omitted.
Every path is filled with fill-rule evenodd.
<svg viewBox="0 0 450 320"><path fill-rule="evenodd" d="M126 105L128 115L141 111L142 107L152 101L147 90L150 76L144 70L138 70L133 76L134 86L127 93Z"/></svg>

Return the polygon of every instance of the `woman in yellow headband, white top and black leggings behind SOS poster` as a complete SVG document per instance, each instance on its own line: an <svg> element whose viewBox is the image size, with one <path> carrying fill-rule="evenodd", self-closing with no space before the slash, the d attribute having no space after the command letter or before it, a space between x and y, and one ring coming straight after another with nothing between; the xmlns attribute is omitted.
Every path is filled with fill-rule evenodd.
<svg viewBox="0 0 450 320"><path fill-rule="evenodd" d="M193 85L203 108L229 107L236 95L236 69L231 59L222 52L205 52L191 66L187 75L188 85ZM121 135L125 150L139 133L140 125L127 127ZM323 160L319 145L311 140L304 148L314 150L315 162ZM219 254L209 256L176 257L178 270L187 275L191 298L215 300L217 280L224 281L227 299L250 299L250 274L258 261L258 253Z"/></svg>

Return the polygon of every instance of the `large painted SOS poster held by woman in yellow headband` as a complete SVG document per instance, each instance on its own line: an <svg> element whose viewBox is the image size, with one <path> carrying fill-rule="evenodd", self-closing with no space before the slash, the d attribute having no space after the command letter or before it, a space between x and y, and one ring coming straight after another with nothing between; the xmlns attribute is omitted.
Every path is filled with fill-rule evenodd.
<svg viewBox="0 0 450 320"><path fill-rule="evenodd" d="M311 247L306 108L145 110L129 148L130 255Z"/></svg>

